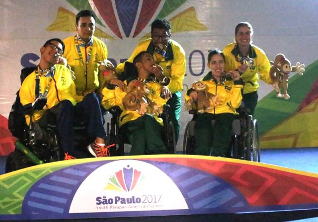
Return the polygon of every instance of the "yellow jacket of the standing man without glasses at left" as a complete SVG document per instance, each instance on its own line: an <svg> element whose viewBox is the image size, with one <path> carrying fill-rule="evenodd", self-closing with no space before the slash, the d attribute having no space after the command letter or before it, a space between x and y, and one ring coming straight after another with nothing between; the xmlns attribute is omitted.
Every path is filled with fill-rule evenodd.
<svg viewBox="0 0 318 222"><path fill-rule="evenodd" d="M84 91L96 90L104 84L104 77L98 75L99 64L97 62L107 59L107 47L94 36L86 45L77 36L65 39L64 44L65 51L63 56L75 72L76 79L74 81L78 95L77 101L80 102L83 99ZM87 64L86 60L88 60Z"/></svg>

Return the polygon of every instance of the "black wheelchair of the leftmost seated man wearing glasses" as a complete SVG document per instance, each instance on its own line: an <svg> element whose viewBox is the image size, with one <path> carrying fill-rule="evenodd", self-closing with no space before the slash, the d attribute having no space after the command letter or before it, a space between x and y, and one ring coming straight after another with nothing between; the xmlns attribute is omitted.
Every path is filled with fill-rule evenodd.
<svg viewBox="0 0 318 222"><path fill-rule="evenodd" d="M36 67L23 68L21 70L21 83ZM32 110L26 111L24 114L32 114ZM21 133L17 135L15 142L15 150L7 157L5 164L5 172L26 168L29 166L56 162L64 160L61 158L59 141L55 132L56 126L49 122L45 127L41 127L37 122L30 121L27 126L23 116L23 124L21 125ZM86 136L86 122L84 119L76 119L75 132L75 148L77 157L87 158L89 152L87 146L93 140Z"/></svg>

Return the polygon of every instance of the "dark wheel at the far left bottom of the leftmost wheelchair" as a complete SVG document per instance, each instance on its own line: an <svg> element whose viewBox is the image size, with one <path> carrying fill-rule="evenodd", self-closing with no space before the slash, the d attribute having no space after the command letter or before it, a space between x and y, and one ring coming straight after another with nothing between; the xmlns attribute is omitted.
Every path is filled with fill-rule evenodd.
<svg viewBox="0 0 318 222"><path fill-rule="evenodd" d="M23 169L34 164L27 159L20 151L10 153L6 159L5 163L5 173L12 172L18 169Z"/></svg>

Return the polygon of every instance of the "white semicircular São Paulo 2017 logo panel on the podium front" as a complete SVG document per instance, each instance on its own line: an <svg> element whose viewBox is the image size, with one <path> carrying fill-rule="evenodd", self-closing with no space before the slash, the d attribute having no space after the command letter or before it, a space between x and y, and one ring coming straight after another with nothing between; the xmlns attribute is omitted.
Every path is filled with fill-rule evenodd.
<svg viewBox="0 0 318 222"><path fill-rule="evenodd" d="M70 213L188 209L165 170L138 160L99 166L79 186Z"/></svg>

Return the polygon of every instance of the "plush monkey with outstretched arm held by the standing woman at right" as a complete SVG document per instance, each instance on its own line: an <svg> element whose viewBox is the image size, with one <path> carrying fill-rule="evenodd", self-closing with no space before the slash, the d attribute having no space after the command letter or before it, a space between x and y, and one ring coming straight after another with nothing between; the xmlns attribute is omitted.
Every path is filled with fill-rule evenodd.
<svg viewBox="0 0 318 222"><path fill-rule="evenodd" d="M297 62L295 66L291 67L290 61L283 54L278 54L275 57L275 61L271 61L271 64L272 66L269 70L269 74L276 91L276 96L288 100L290 98L287 93L288 74L290 72L298 72L298 74L303 75L305 72L305 65ZM283 91L283 94L281 93L281 90Z"/></svg>

